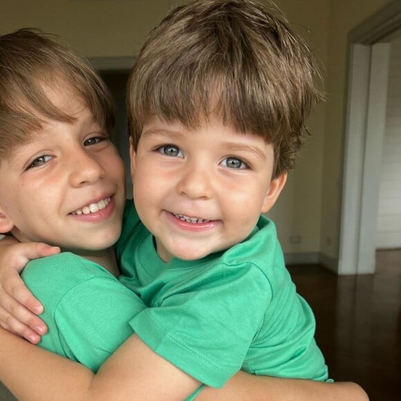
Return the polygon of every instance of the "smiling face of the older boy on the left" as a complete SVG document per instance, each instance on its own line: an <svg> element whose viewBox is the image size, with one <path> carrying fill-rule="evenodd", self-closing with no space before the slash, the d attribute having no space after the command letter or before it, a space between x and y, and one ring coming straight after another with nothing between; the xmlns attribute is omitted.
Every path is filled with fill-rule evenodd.
<svg viewBox="0 0 401 401"><path fill-rule="evenodd" d="M1 160L1 232L78 254L104 250L120 235L122 161L75 92L49 89L48 96L76 120L45 120L41 131Z"/></svg>

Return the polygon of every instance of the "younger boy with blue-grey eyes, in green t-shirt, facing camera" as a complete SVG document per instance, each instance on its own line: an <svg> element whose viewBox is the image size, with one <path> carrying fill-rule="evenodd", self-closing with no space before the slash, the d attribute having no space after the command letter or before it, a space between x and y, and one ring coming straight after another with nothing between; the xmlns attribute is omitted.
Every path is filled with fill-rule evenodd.
<svg viewBox="0 0 401 401"><path fill-rule="evenodd" d="M138 336L98 379L88 376L83 399L127 379L134 355L142 377L152 366L182 394L223 386L240 368L326 380L313 315L274 225L259 218L285 185L317 97L311 65L288 26L248 1L196 1L152 32L129 91L144 226L127 209L118 246L124 283L152 308L133 317Z"/></svg>

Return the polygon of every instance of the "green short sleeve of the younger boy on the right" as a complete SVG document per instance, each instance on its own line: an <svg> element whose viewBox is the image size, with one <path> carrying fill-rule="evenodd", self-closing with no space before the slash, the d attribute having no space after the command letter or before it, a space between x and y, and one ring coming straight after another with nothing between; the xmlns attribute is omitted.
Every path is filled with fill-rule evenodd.
<svg viewBox="0 0 401 401"><path fill-rule="evenodd" d="M130 324L153 351L200 382L221 387L241 369L271 293L249 263L221 263L210 272Z"/></svg>

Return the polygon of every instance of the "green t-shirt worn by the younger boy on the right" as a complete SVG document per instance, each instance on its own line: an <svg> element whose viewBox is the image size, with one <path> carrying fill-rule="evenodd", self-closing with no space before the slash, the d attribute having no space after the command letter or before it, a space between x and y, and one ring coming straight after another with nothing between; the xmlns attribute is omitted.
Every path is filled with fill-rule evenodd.
<svg viewBox="0 0 401 401"><path fill-rule="evenodd" d="M297 295L272 221L225 252L164 263L133 203L117 245L120 281L148 308L131 319L156 353L208 386L242 369L256 375L327 380L315 319Z"/></svg>

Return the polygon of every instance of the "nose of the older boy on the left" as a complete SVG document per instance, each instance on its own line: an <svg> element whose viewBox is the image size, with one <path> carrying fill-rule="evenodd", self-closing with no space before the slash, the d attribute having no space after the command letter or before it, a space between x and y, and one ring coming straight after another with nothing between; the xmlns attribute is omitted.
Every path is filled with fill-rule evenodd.
<svg viewBox="0 0 401 401"><path fill-rule="evenodd" d="M86 152L85 149L74 149L69 159L72 166L70 183L73 187L96 183L106 173L95 155Z"/></svg>

